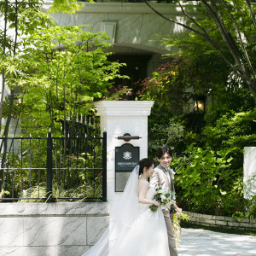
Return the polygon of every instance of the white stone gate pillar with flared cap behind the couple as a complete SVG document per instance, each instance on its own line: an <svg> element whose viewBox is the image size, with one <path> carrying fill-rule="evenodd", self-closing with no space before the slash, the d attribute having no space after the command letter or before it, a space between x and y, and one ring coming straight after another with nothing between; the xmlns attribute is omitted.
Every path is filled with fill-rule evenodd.
<svg viewBox="0 0 256 256"><path fill-rule="evenodd" d="M115 192L115 147L125 143L117 137L129 133L142 137L131 140L134 147L139 147L139 158L148 156L148 115L154 102L151 101L102 101L95 102L101 116L101 130L107 131L107 199L110 207L117 200L120 192ZM111 212L110 212L111 213Z"/></svg>

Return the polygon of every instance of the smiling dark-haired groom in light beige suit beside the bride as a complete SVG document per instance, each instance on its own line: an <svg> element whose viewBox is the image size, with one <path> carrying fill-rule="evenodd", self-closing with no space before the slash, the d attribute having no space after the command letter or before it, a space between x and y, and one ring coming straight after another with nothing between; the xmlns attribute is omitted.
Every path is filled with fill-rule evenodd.
<svg viewBox="0 0 256 256"><path fill-rule="evenodd" d="M174 191L174 172L170 168L172 162L172 150L169 147L161 147L156 153L157 160L160 162L158 166L154 168L153 176L150 178L150 185L154 188L169 188ZM171 256L177 256L176 241L174 237L174 232L172 229L173 214L170 212L170 208L162 207L161 209L164 213L166 221L166 230L168 234L169 250Z"/></svg>

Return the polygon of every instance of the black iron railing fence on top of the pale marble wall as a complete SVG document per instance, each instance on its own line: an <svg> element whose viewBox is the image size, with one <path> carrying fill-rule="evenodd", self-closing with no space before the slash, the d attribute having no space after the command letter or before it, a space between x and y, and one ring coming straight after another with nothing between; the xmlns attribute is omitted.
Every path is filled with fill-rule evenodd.
<svg viewBox="0 0 256 256"><path fill-rule="evenodd" d="M103 137L1 137L0 201L106 201Z"/></svg>

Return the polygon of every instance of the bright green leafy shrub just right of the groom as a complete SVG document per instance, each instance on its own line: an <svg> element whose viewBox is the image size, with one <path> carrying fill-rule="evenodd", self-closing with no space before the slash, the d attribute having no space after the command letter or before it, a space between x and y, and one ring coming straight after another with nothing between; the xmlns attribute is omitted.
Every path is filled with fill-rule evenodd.
<svg viewBox="0 0 256 256"><path fill-rule="evenodd" d="M211 148L195 148L191 144L185 157L174 160L172 166L180 170L175 177L177 198L186 201L189 210L207 213L221 196L226 194L221 185L232 158L227 151L214 153Z"/></svg>

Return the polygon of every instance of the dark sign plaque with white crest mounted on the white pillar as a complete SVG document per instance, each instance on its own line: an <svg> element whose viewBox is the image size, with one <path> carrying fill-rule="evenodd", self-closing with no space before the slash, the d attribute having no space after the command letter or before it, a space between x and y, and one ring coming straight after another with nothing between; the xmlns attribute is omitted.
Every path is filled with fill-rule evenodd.
<svg viewBox="0 0 256 256"><path fill-rule="evenodd" d="M131 171L138 165L140 148L130 143L115 148L115 192L123 192Z"/></svg>

